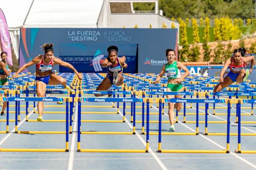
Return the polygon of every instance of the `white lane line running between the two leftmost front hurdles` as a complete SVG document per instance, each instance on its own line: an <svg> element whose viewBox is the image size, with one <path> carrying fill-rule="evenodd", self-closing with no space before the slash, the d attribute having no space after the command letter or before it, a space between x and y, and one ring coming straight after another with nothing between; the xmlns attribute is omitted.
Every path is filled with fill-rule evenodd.
<svg viewBox="0 0 256 170"><path fill-rule="evenodd" d="M74 128L76 130L77 126L77 116L78 116L78 102L76 103L76 113L75 113L75 120L74 120ZM74 160L74 152L75 152L75 144L76 144L76 132L72 133L72 141L71 141L71 148L70 148L70 158L68 161L68 170L73 170L73 160Z"/></svg>

